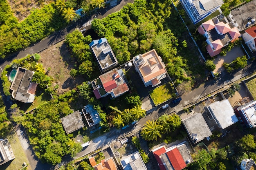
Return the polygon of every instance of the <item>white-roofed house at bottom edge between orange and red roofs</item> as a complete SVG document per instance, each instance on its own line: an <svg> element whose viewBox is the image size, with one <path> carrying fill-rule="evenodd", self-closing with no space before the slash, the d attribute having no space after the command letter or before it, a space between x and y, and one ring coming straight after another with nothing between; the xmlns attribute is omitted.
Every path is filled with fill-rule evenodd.
<svg viewBox="0 0 256 170"><path fill-rule="evenodd" d="M123 170L147 170L147 167L138 151L122 158L120 163Z"/></svg>

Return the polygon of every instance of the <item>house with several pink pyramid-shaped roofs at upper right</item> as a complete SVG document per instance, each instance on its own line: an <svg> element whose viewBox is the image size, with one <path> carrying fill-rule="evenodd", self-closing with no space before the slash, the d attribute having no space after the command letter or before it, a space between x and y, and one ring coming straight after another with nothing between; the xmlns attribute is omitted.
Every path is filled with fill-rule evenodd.
<svg viewBox="0 0 256 170"><path fill-rule="evenodd" d="M198 32L207 38L206 49L211 57L218 55L222 47L238 40L241 36L236 26L232 22L227 23L222 17L220 15L208 20L198 27Z"/></svg>

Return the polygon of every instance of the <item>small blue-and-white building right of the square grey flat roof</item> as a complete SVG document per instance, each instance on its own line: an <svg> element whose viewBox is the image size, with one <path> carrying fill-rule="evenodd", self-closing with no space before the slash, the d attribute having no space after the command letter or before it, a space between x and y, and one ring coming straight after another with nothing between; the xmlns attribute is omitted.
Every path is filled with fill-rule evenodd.
<svg viewBox="0 0 256 170"><path fill-rule="evenodd" d="M90 104L86 105L82 109L82 112L89 127L99 124L99 122L101 121L99 113Z"/></svg>

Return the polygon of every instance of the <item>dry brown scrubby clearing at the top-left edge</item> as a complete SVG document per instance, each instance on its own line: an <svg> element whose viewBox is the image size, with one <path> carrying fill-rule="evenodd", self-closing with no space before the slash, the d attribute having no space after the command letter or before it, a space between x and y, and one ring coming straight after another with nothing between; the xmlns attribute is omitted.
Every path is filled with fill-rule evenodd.
<svg viewBox="0 0 256 170"><path fill-rule="evenodd" d="M8 0L13 15L19 21L24 20L30 14L30 11L36 8L42 8L45 4L54 2L53 0Z"/></svg>

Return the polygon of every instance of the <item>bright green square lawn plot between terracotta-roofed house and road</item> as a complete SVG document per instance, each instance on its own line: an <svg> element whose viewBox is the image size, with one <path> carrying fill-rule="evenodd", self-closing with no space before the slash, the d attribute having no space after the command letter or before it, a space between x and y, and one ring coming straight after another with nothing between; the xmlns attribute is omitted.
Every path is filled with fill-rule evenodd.
<svg viewBox="0 0 256 170"><path fill-rule="evenodd" d="M153 100L155 106L166 102L167 100L173 98L172 94L176 93L175 88L171 83L163 84L152 91L149 92L151 99Z"/></svg>

